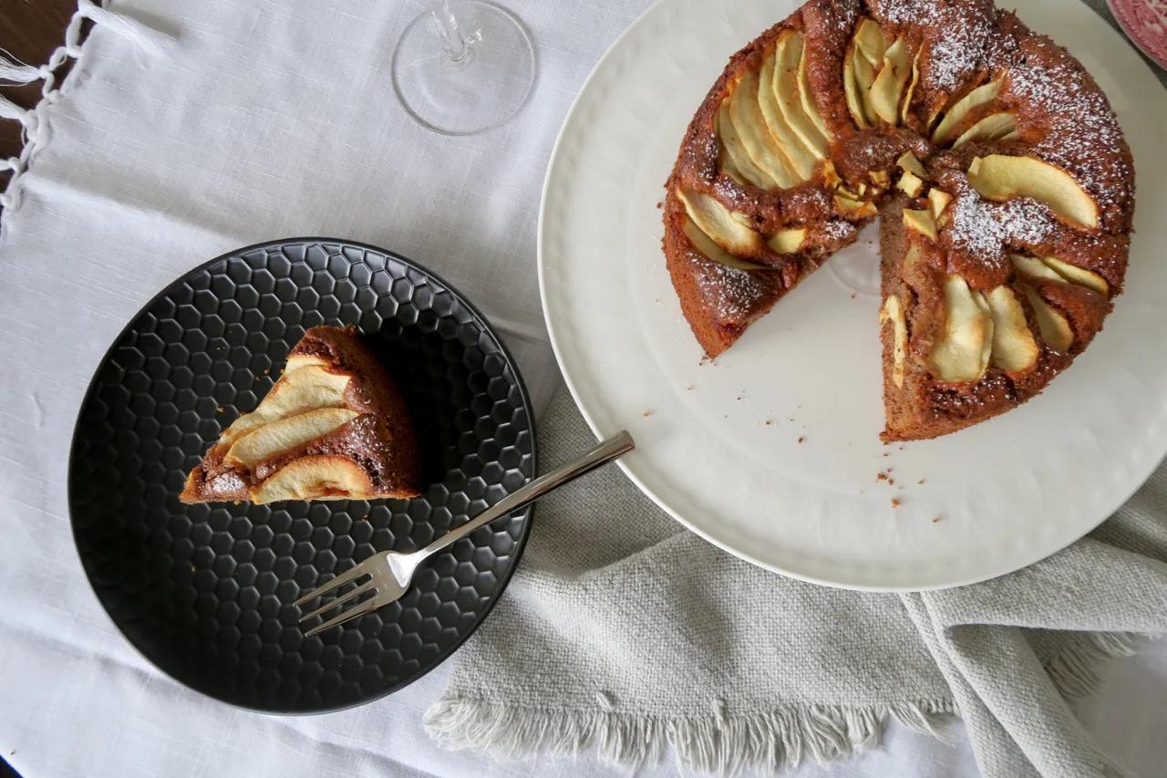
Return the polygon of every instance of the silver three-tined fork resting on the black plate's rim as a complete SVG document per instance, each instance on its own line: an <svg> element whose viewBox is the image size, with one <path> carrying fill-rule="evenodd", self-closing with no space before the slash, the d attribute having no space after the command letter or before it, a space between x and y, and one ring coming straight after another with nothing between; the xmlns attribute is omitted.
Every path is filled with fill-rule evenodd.
<svg viewBox="0 0 1167 778"><path fill-rule="evenodd" d="M344 624L349 619L364 616L365 613L375 611L378 607L384 607L390 603L396 603L410 588L410 582L413 579L413 574L417 571L418 567L438 551L445 549L450 543L466 537L478 527L489 525L496 519L501 519L506 514L513 513L515 510L525 507L537 498L543 496L547 492L562 486L567 481L574 480L580 475L628 453L635 446L636 444L633 442L633 436L630 436L627 430L617 432L579 458L567 463L566 465L557 467L550 473L536 478L517 492L508 494L470 521L446 533L420 551L413 551L412 554L378 551L377 554L373 554L361 564L342 572L328 583L313 589L307 595L298 599L295 605L296 607L301 607L317 597L322 597L334 589L343 586L344 584L356 583L362 578L369 578L369 581L358 584L356 589L344 592L336 599L321 605L310 613L305 613L300 617L300 623L302 624L310 618L322 616L334 607L340 607L341 605L355 600L365 593L372 593L371 597L357 602L356 605L347 611L341 611L323 624L319 624L308 630L307 634L310 637L317 632L323 632L324 630Z"/></svg>

